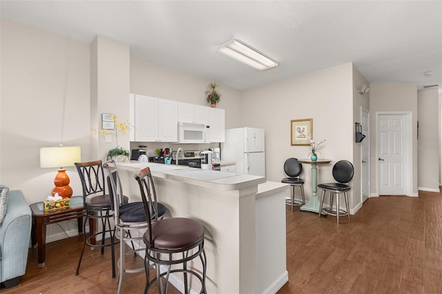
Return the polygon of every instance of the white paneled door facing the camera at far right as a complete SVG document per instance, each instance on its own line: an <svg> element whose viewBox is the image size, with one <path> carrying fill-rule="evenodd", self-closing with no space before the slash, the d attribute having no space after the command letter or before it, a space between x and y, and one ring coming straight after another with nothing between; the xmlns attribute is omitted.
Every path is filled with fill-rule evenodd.
<svg viewBox="0 0 442 294"><path fill-rule="evenodd" d="M408 158L403 114L378 117L379 195L407 195Z"/></svg>

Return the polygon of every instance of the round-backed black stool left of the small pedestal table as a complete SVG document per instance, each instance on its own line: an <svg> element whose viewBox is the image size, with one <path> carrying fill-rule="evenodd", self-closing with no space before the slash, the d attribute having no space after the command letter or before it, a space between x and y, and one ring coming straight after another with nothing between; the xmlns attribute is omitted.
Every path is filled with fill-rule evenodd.
<svg viewBox="0 0 442 294"><path fill-rule="evenodd" d="M296 158L289 158L284 163L284 171L289 177L285 177L281 182L290 184L291 186L291 197L286 200L286 204L290 205L291 211L293 211L293 206L301 206L305 204L304 180L299 178L299 175L302 173L302 164L300 164ZM301 189L302 201L295 199L296 186Z"/></svg>

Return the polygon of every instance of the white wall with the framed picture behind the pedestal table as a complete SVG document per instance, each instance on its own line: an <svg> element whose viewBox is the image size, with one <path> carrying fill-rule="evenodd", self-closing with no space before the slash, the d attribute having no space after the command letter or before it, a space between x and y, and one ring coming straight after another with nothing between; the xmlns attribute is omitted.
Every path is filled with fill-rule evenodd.
<svg viewBox="0 0 442 294"><path fill-rule="evenodd" d="M309 155L309 146L290 144L292 119L312 118L314 139L327 140L318 157L332 159L332 164L318 168L318 183L334 181L332 166L336 161L353 161L352 70L352 63L345 63L242 92L241 126L265 128L268 180L280 182L285 177L287 158ZM303 164L303 168L301 177L309 199L311 166Z"/></svg>

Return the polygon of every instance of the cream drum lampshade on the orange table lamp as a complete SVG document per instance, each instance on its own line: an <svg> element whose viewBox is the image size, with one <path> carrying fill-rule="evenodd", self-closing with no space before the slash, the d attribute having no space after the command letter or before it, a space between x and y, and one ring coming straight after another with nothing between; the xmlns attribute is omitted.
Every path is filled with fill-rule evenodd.
<svg viewBox="0 0 442 294"><path fill-rule="evenodd" d="M81 147L42 147L40 148L41 168L62 168L73 166L81 161Z"/></svg>

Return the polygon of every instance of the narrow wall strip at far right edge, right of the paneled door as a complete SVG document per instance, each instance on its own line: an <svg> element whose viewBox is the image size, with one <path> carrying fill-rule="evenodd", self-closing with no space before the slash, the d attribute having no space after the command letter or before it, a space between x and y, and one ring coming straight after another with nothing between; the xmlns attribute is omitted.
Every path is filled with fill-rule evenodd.
<svg viewBox="0 0 442 294"><path fill-rule="evenodd" d="M439 192L439 93L418 90L419 138L417 146L419 190Z"/></svg>

